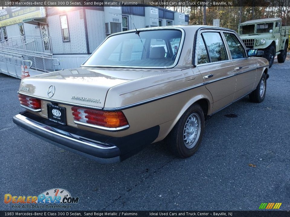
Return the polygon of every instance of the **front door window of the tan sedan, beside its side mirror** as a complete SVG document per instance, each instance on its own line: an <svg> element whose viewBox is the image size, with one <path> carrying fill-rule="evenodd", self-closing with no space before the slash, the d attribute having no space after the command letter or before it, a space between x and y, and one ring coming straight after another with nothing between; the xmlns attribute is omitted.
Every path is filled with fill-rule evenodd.
<svg viewBox="0 0 290 217"><path fill-rule="evenodd" d="M237 37L232 33L224 33L224 37L226 38L227 45L229 46L232 59L244 58L245 52Z"/></svg>

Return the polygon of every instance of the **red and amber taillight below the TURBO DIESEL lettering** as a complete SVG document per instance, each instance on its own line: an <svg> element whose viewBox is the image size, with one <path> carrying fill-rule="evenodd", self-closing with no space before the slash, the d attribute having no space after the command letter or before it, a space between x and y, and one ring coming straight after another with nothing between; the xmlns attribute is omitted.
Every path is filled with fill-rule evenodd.
<svg viewBox="0 0 290 217"><path fill-rule="evenodd" d="M101 127L118 128L128 125L123 112L107 112L101 110L72 107L72 115L75 121L92 124Z"/></svg>

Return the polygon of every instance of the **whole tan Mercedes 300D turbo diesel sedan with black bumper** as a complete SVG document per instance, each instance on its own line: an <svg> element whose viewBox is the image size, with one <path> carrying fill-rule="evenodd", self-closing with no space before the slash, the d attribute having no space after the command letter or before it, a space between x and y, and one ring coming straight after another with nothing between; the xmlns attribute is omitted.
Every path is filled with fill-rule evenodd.
<svg viewBox="0 0 290 217"><path fill-rule="evenodd" d="M80 68L25 78L13 121L64 149L111 163L166 139L192 156L205 118L249 95L262 102L268 61L235 31L172 26L116 33Z"/></svg>

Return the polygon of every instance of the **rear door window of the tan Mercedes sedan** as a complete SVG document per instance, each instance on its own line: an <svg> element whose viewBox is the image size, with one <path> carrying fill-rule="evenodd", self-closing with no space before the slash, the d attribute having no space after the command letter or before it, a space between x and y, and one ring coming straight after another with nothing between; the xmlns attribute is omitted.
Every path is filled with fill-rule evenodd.
<svg viewBox="0 0 290 217"><path fill-rule="evenodd" d="M204 32L201 34L205 40L211 62L228 60L226 48L218 32Z"/></svg>

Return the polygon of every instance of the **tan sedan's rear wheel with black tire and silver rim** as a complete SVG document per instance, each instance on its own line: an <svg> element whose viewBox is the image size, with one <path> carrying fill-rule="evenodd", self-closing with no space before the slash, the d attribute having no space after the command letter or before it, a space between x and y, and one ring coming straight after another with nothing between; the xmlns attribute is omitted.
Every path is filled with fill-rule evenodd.
<svg viewBox="0 0 290 217"><path fill-rule="evenodd" d="M191 132L184 135L186 129L190 131L189 127L192 127ZM205 116L201 106L195 103L185 111L166 137L169 150L179 158L192 156L200 146L204 130Z"/></svg>

